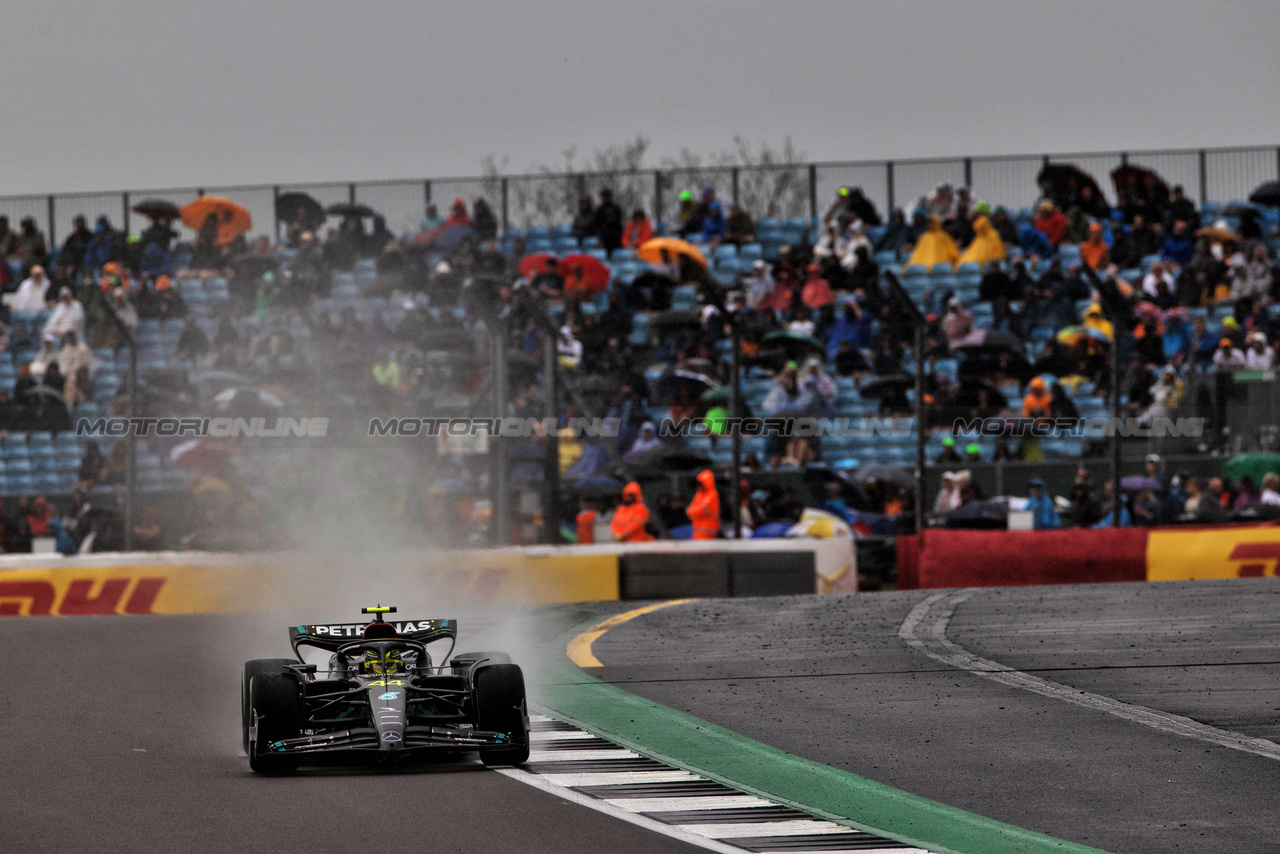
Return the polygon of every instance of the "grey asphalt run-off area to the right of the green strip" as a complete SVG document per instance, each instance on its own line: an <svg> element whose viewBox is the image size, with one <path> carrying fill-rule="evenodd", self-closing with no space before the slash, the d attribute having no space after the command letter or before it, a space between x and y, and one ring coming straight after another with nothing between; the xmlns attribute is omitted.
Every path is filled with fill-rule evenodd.
<svg viewBox="0 0 1280 854"><path fill-rule="evenodd" d="M1116 854L1280 850L1280 762L948 668L931 592L704 600L595 641L602 677L797 755ZM1280 580L1006 588L948 638L1126 703L1280 740Z"/></svg>

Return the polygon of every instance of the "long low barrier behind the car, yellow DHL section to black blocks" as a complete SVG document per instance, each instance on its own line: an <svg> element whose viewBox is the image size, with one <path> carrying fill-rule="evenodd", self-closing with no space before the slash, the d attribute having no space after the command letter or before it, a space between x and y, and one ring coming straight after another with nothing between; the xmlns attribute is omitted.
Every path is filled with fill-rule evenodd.
<svg viewBox="0 0 1280 854"><path fill-rule="evenodd" d="M0 617L223 613L285 603L291 584L380 571L421 579L440 607L678 595L851 592L849 539L412 551L378 558L202 552L0 556ZM675 593L673 593L675 592ZM681 593L682 592L682 593Z"/></svg>

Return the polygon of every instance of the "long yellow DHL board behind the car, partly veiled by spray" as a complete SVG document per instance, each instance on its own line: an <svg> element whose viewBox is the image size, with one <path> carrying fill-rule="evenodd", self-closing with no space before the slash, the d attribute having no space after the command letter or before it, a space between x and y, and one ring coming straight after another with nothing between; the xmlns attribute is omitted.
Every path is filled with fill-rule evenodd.
<svg viewBox="0 0 1280 854"><path fill-rule="evenodd" d="M56 615L220 613L278 607L291 585L324 585L334 566L344 574L370 567L246 557L246 562L193 557L191 562L0 568L0 617ZM252 562L250 562L252 561ZM475 551L401 556L406 585L429 585L442 604L549 604L617 599L618 560L609 554L526 554ZM312 575L314 571L314 575ZM375 570L374 570L375 571Z"/></svg>

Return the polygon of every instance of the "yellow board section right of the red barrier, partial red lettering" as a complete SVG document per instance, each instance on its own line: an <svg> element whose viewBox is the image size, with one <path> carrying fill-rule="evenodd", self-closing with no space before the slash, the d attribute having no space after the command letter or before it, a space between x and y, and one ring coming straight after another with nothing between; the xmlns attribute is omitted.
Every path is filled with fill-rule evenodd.
<svg viewBox="0 0 1280 854"><path fill-rule="evenodd" d="M1247 579L1280 575L1280 528L1152 531L1147 580Z"/></svg>

